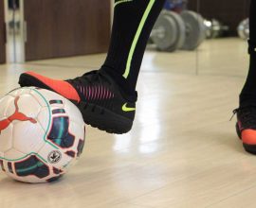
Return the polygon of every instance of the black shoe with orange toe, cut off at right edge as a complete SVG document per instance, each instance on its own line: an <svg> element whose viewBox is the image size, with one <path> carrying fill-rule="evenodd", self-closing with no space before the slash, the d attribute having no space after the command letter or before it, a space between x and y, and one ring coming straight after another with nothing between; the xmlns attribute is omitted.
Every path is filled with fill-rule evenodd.
<svg viewBox="0 0 256 208"><path fill-rule="evenodd" d="M256 106L234 110L237 113L236 132L247 152L256 154Z"/></svg>

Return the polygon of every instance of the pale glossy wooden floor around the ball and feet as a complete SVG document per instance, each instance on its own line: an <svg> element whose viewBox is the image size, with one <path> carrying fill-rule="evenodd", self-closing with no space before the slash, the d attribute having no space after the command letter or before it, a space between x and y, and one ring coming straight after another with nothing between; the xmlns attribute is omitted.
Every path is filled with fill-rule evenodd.
<svg viewBox="0 0 256 208"><path fill-rule="evenodd" d="M30 185L0 173L0 207L256 207L256 157L237 139L235 119L229 122L246 53L238 39L209 41L197 55L147 52L133 130L111 135L87 127L82 159L61 182ZM76 77L104 56L1 65L0 93L17 87L26 70Z"/></svg>

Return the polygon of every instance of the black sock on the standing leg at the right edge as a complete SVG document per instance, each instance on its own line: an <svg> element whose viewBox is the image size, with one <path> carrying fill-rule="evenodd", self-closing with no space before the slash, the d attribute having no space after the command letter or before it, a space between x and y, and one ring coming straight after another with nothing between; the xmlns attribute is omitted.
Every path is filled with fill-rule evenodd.
<svg viewBox="0 0 256 208"><path fill-rule="evenodd" d="M256 106L256 1L251 0L249 15L248 53L250 56L247 81L240 95L240 107Z"/></svg>

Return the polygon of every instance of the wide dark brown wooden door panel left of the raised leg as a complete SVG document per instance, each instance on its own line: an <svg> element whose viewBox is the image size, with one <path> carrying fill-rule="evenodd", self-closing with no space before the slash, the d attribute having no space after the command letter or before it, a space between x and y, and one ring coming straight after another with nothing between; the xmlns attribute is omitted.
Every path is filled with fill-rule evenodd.
<svg viewBox="0 0 256 208"><path fill-rule="evenodd" d="M24 0L26 61L106 52L110 1Z"/></svg>

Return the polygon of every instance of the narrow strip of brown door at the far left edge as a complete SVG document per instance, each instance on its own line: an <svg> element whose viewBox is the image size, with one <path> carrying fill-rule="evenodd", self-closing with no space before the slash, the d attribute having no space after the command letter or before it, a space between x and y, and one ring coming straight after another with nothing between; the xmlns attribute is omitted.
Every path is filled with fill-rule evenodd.
<svg viewBox="0 0 256 208"><path fill-rule="evenodd" d="M6 61L6 29L4 15L4 1L0 1L0 63Z"/></svg>

